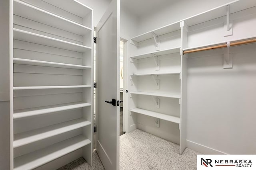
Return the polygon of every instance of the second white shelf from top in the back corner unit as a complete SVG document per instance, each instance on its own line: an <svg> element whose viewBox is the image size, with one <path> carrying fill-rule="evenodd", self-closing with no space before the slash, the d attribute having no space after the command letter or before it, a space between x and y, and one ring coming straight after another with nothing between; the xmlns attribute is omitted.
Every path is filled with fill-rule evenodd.
<svg viewBox="0 0 256 170"><path fill-rule="evenodd" d="M135 55L135 56L132 56L131 58L132 59L145 59L145 58L149 58L149 57L161 56L161 55L167 55L167 54L173 54L173 53L180 53L180 47L174 47L171 49L160 50L160 51L152 51L150 53Z"/></svg>

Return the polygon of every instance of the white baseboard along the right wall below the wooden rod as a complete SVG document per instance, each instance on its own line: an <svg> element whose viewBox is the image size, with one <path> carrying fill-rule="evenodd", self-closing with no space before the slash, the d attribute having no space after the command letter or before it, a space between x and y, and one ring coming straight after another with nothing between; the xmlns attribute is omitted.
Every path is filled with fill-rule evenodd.
<svg viewBox="0 0 256 170"><path fill-rule="evenodd" d="M206 147L204 145L186 140L186 147L202 154L227 154L225 152L221 152L220 150L212 149L210 147Z"/></svg>

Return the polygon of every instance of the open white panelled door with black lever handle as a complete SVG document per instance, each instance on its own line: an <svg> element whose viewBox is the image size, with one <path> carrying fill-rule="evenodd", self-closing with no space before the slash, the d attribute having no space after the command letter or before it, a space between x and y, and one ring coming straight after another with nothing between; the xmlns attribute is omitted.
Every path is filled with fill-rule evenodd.
<svg viewBox="0 0 256 170"><path fill-rule="evenodd" d="M96 27L96 150L106 170L119 170L120 0Z"/></svg>

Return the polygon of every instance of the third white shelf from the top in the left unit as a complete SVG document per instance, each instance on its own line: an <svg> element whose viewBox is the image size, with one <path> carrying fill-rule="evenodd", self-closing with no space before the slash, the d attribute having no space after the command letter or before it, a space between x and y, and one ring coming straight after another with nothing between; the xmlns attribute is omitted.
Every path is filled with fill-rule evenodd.
<svg viewBox="0 0 256 170"><path fill-rule="evenodd" d="M92 68L91 66L82 66L82 65L76 65L76 64L55 63L50 61L39 61L39 60L19 59L19 58L13 58L13 63L33 65L33 66L72 68L72 69L80 69L80 70Z"/></svg>

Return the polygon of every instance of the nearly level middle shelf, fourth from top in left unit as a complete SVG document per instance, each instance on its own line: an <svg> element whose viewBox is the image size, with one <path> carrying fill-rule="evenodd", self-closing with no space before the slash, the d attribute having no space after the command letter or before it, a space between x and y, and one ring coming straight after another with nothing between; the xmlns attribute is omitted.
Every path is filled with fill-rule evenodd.
<svg viewBox="0 0 256 170"><path fill-rule="evenodd" d="M86 88L92 87L87 85L78 85L78 86L16 86L13 87L13 90L32 90L32 89L54 89L54 88Z"/></svg>

